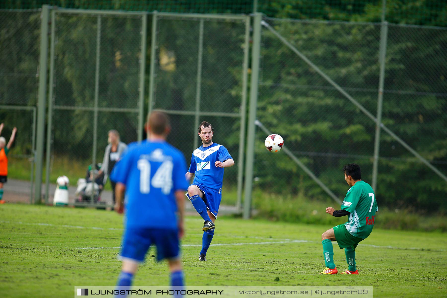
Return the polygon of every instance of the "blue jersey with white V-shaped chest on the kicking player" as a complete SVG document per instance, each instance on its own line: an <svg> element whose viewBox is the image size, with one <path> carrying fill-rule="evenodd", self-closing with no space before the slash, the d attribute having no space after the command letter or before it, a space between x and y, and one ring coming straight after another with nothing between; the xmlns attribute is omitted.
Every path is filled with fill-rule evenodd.
<svg viewBox="0 0 447 298"><path fill-rule="evenodd" d="M216 168L216 161L224 162L233 159L227 148L212 143L211 146L200 146L191 156L191 165L188 172L194 173L194 184L202 185L220 193L222 190L223 168Z"/></svg>

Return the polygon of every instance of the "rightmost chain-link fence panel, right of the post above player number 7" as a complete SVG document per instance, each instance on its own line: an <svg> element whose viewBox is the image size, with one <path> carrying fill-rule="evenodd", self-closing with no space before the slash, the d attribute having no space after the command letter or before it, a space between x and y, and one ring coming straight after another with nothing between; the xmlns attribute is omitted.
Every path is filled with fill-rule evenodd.
<svg viewBox="0 0 447 298"><path fill-rule="evenodd" d="M447 59L444 28L389 25L383 123L447 173ZM378 191L398 206L445 208L446 181L381 134ZM390 187L393 185L393 187ZM400 186L398 186L400 185ZM388 195L388 193L390 193Z"/></svg>

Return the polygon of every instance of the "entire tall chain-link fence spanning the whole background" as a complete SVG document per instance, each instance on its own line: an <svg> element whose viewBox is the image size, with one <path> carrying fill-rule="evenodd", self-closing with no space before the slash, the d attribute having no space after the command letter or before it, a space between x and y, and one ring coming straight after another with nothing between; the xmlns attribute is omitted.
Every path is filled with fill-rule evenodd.
<svg viewBox="0 0 447 298"><path fill-rule="evenodd" d="M0 116L5 135L10 122L23 120L12 151L22 159L11 155L10 164L11 178L21 178L33 172L27 158L40 119L40 12L0 11L0 19ZM262 27L261 42L250 39L250 19L254 31ZM445 210L447 29L256 19L51 8L46 198L57 176L73 185L102 161L109 130L125 143L142 139L148 101L149 111L170 114L169 142L187 159L200 146L198 124L214 126L214 141L236 161L225 171L223 204L240 207L245 124L254 123L245 117L256 110L254 153L246 152L255 154L246 161L255 188L341 199L342 167L356 162L364 180L376 181L382 203ZM252 63L261 49L261 71L252 80L259 92L250 96L257 106L247 111L247 77L257 74L249 68L250 41ZM283 136L287 154L266 151L267 131Z"/></svg>

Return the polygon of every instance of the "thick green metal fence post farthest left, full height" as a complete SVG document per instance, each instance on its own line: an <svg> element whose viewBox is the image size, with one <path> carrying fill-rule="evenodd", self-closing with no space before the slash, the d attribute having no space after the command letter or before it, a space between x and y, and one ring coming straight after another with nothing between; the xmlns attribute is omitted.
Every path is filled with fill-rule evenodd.
<svg viewBox="0 0 447 298"><path fill-rule="evenodd" d="M40 58L39 58L39 88L38 88L38 119L36 135L36 190L34 203L40 203L42 196L42 170L43 170L43 147L45 139L45 108L46 108L46 72L48 70L48 23L50 7L42 5L40 25Z"/></svg>

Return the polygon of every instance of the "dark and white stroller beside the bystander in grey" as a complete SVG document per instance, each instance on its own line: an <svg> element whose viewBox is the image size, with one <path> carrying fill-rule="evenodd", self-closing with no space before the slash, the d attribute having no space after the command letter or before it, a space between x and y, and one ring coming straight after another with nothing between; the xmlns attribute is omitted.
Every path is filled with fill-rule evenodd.
<svg viewBox="0 0 447 298"><path fill-rule="evenodd" d="M101 202L101 192L104 189L104 173L98 174L101 169L101 163L96 165L96 168L92 170L92 165L89 165L85 178L78 179L76 189L76 202L89 203L93 202L99 204L105 204ZM94 179L94 180L93 180Z"/></svg>

